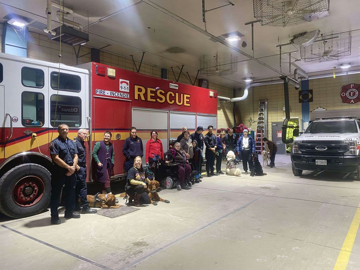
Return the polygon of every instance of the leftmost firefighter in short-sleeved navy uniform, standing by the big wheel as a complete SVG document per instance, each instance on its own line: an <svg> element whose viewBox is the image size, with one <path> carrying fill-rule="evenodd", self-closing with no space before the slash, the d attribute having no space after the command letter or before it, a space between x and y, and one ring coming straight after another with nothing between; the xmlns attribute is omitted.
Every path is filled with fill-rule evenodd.
<svg viewBox="0 0 360 270"><path fill-rule="evenodd" d="M51 224L61 224L58 207L61 190L65 184L65 215L67 219L78 219L80 214L74 212L75 208L75 186L77 147L76 144L67 138L69 127L65 124L58 126L59 136L50 143L51 159L54 163L54 170L51 174L51 197L50 211Z"/></svg>

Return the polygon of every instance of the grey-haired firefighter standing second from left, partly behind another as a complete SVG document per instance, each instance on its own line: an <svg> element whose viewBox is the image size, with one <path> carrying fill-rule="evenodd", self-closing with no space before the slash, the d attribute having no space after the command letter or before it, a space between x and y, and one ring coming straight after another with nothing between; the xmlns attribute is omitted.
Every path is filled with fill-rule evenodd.
<svg viewBox="0 0 360 270"><path fill-rule="evenodd" d="M87 130L79 129L77 132L77 138L74 139L74 143L77 148L77 165L76 165L76 187L75 187L75 210L81 210L82 214L93 214L98 212L96 209L89 207L89 202L86 199L87 185L86 185L86 147L84 141L86 140ZM78 205L78 199L80 198L81 207Z"/></svg>

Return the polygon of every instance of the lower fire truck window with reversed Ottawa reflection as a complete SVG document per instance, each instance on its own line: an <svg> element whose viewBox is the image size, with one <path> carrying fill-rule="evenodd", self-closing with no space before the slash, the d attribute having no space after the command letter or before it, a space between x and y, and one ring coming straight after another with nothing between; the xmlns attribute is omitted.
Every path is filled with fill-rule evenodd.
<svg viewBox="0 0 360 270"><path fill-rule="evenodd" d="M66 124L69 127L80 127L81 99L78 96L52 95L50 98L50 108L51 126L57 127L60 124Z"/></svg>

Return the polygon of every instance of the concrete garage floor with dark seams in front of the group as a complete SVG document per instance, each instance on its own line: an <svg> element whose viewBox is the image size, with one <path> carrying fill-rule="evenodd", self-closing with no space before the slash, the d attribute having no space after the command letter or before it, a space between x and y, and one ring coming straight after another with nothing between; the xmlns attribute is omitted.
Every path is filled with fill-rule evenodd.
<svg viewBox="0 0 360 270"><path fill-rule="evenodd" d="M333 269L356 235L360 183L329 172L294 177L289 156L276 162L267 176L204 176L192 190L163 190L170 204L114 219L61 212L56 226L49 212L1 216L1 269ZM346 269L360 269L359 239L340 256L350 254Z"/></svg>

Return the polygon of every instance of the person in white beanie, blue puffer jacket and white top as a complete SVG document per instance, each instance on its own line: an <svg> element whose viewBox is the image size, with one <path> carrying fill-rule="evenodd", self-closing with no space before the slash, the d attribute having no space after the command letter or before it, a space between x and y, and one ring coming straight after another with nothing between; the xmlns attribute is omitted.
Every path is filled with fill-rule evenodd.
<svg viewBox="0 0 360 270"><path fill-rule="evenodd" d="M236 152L243 161L245 174L248 174L248 163L250 171L252 170L252 153L255 152L255 140L249 135L247 129L243 130L243 135L240 136L236 144Z"/></svg>

